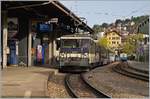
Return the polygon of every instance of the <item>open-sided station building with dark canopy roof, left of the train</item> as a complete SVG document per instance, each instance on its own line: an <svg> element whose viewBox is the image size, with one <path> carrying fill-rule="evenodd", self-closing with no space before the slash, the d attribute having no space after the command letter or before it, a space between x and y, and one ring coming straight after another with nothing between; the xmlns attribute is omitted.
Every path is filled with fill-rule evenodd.
<svg viewBox="0 0 150 99"><path fill-rule="evenodd" d="M1 1L1 10L1 68L39 65L39 58L40 65L51 66L56 58L56 38L79 30L93 32L58 0Z"/></svg>

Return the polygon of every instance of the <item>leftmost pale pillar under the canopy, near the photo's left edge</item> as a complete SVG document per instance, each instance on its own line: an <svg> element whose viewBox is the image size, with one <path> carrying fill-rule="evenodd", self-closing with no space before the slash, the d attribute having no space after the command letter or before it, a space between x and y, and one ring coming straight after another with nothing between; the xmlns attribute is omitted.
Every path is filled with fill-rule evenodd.
<svg viewBox="0 0 150 99"><path fill-rule="evenodd" d="M8 35L8 25L7 25L7 11L2 12L2 17L3 17L3 67L2 68L7 68L7 35Z"/></svg>

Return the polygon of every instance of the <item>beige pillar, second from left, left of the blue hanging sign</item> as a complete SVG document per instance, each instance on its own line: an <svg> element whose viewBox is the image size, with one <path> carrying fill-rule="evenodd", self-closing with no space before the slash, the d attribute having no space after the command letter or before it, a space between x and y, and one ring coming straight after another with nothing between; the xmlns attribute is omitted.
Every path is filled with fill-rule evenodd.
<svg viewBox="0 0 150 99"><path fill-rule="evenodd" d="M31 66L31 48L32 48L32 31L31 20L29 20L29 33L28 33L28 66Z"/></svg>

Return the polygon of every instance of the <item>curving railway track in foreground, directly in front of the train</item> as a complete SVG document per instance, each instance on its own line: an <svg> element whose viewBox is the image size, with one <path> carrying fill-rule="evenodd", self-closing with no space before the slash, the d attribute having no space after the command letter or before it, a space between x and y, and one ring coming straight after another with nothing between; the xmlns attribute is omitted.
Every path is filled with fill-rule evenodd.
<svg viewBox="0 0 150 99"><path fill-rule="evenodd" d="M82 74L68 74L65 77L66 88L73 98L109 98L91 87L83 78Z"/></svg>

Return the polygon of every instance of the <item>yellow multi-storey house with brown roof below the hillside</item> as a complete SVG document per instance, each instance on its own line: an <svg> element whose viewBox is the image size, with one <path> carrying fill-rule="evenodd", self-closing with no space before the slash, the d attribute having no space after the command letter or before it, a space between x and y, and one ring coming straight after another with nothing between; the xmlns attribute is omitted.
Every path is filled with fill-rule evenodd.
<svg viewBox="0 0 150 99"><path fill-rule="evenodd" d="M105 33L106 38L108 39L108 46L113 50L118 50L121 44L121 35L116 30L107 31Z"/></svg>

